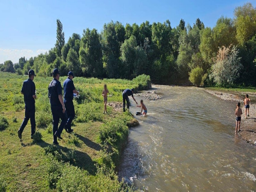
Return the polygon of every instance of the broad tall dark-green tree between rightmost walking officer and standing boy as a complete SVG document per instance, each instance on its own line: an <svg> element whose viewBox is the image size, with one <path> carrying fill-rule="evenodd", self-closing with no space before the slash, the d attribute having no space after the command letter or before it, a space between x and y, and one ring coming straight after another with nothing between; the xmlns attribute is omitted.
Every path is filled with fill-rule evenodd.
<svg viewBox="0 0 256 192"><path fill-rule="evenodd" d="M85 76L101 77L103 73L102 47L96 29L84 30L79 58Z"/></svg>

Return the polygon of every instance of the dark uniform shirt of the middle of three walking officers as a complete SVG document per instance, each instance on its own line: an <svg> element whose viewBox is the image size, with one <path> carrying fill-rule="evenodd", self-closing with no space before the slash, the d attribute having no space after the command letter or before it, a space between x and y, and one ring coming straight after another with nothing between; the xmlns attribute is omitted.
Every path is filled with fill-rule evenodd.
<svg viewBox="0 0 256 192"><path fill-rule="evenodd" d="M62 106L59 95L62 95L62 87L60 82L54 78L48 87L48 97L52 107Z"/></svg>

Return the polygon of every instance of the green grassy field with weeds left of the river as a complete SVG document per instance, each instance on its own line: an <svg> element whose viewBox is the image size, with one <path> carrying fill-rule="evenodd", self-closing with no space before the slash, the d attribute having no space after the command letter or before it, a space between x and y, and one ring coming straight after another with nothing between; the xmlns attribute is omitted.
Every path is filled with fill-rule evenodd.
<svg viewBox="0 0 256 192"><path fill-rule="evenodd" d="M101 92L108 84L108 102L122 101L125 88L146 89L149 76L132 81L121 79L74 78L81 97L74 100L74 133L63 131L60 146L52 145L52 114L47 87L52 78L35 77L36 135L30 139L30 123L22 140L17 130L24 118L20 94L27 76L0 72L0 191L127 191L116 176L128 126L137 124L128 112L108 106L103 112ZM60 82L66 77L61 77Z"/></svg>

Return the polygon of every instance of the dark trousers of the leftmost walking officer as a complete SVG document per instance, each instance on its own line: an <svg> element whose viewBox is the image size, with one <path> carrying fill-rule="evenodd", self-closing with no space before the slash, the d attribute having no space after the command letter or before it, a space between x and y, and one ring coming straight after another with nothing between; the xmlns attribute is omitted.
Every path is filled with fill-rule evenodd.
<svg viewBox="0 0 256 192"><path fill-rule="evenodd" d="M31 135L35 134L36 132L36 120L35 120L35 103L25 103L25 117L20 126L20 132L22 133L26 125L28 124L28 120L30 119L31 124Z"/></svg>

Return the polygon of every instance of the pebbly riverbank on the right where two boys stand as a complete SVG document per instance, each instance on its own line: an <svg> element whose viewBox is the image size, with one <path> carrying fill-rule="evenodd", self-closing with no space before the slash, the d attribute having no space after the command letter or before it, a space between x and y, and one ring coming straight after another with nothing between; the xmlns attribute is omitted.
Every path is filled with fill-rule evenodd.
<svg viewBox="0 0 256 192"><path fill-rule="evenodd" d="M241 93L232 94L232 93L213 91L213 90L207 90L207 89L204 89L204 91L220 98L221 100L233 101L234 109L236 107L236 102L240 102L241 108L244 113L244 104L243 104L244 98L241 98L241 96L240 96ZM251 94L253 94L253 92ZM250 104L249 115L250 116L247 118L245 118L244 114L242 115L241 131L238 133L238 135L242 140L245 140L247 143L256 145L256 104L254 104L254 103ZM234 121L235 121L235 115L234 115ZM235 124L234 124L234 126L235 126Z"/></svg>

